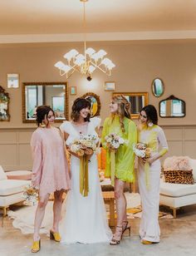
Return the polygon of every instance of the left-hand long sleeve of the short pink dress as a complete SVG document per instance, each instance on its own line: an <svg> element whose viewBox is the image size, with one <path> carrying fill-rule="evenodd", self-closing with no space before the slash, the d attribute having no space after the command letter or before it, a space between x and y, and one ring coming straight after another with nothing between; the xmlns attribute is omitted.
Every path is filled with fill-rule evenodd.
<svg viewBox="0 0 196 256"><path fill-rule="evenodd" d="M42 180L42 138L34 131L31 140L32 147L32 185L39 189Z"/></svg>

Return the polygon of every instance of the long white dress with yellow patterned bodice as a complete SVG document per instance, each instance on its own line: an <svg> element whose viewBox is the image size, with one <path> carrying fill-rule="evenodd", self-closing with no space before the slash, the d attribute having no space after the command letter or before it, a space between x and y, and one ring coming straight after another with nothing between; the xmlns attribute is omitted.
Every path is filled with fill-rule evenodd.
<svg viewBox="0 0 196 256"><path fill-rule="evenodd" d="M159 182L161 165L159 157L168 151L167 140L161 127L143 126L139 129L138 142L145 143L150 148L150 157L154 162L149 165L148 183L146 183L145 165L139 158L138 183L142 203L142 218L140 221L140 238L159 243Z"/></svg>

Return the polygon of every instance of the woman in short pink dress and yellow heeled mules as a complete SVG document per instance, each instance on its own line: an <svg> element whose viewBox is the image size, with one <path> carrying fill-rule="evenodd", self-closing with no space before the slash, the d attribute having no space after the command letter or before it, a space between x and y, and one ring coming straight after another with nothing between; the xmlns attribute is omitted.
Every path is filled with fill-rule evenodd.
<svg viewBox="0 0 196 256"><path fill-rule="evenodd" d="M39 190L39 203L34 223L32 253L41 248L39 231L45 208L51 193L54 193L54 219L50 239L60 242L58 224L61 219L62 194L71 187L64 141L60 130L52 127L54 111L50 106L37 107L37 130L32 134L33 156L32 185Z"/></svg>

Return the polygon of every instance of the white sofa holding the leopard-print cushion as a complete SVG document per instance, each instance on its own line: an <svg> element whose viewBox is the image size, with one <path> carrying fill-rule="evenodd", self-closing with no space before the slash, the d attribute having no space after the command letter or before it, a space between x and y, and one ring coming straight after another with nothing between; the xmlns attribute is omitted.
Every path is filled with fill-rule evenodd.
<svg viewBox="0 0 196 256"><path fill-rule="evenodd" d="M193 169L194 185L160 182L159 204L167 205L173 209L174 218L176 210L182 206L196 204L196 160L190 159Z"/></svg>

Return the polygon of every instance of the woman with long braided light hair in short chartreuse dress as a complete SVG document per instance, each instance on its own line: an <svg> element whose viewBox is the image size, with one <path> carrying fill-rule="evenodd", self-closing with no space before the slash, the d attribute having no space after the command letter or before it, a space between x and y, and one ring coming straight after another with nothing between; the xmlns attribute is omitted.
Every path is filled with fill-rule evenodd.
<svg viewBox="0 0 196 256"><path fill-rule="evenodd" d="M125 96L114 96L110 102L110 116L105 119L101 143L106 150L105 176L111 177L112 150L108 147L105 136L115 133L126 143L115 150L115 203L117 212L117 225L110 245L120 244L122 234L130 225L126 217L126 199L124 194L125 182L134 182L135 154L133 144L137 141L137 130L134 121L130 119L130 102ZM114 165L113 165L114 166ZM112 177L111 177L112 178ZM112 179L111 182L113 183Z"/></svg>

